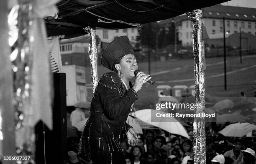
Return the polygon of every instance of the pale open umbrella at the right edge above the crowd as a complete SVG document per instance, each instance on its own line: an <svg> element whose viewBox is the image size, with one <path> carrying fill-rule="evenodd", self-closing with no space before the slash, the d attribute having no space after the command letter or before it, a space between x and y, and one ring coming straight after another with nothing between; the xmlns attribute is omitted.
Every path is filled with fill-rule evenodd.
<svg viewBox="0 0 256 164"><path fill-rule="evenodd" d="M222 129L219 133L226 137L243 137L249 132L256 130L256 126L248 122L238 122L236 124L230 124Z"/></svg>

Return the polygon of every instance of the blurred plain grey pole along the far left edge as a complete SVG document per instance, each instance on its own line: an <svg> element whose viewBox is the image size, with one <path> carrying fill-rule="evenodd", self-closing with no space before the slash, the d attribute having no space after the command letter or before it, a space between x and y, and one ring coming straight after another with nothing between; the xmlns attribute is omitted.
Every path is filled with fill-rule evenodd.
<svg viewBox="0 0 256 164"><path fill-rule="evenodd" d="M14 133L13 78L8 45L8 0L0 0L0 155L16 155ZM3 137L3 138L2 138ZM4 162L14 164L16 162Z"/></svg>

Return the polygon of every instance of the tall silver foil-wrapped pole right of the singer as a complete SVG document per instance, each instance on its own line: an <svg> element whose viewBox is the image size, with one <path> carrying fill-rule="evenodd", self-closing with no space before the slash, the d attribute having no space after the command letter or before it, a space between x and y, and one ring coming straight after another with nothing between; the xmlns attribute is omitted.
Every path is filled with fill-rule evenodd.
<svg viewBox="0 0 256 164"><path fill-rule="evenodd" d="M205 112L205 67L202 41L202 10L187 12L192 22L192 35L194 41L194 67L195 67L195 103L202 104L202 109L195 109L195 114ZM205 118L194 117L194 163L205 164Z"/></svg>

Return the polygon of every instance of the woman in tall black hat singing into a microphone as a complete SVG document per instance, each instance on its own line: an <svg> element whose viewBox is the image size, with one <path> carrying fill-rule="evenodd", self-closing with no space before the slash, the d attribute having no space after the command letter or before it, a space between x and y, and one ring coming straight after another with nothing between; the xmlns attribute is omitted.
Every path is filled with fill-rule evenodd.
<svg viewBox="0 0 256 164"><path fill-rule="evenodd" d="M143 72L138 72L135 77L138 65L126 36L116 38L106 47L101 64L113 72L103 74L98 81L91 115L81 137L82 150L91 164L125 164L121 138L126 135L131 146L138 143L138 137L126 124L126 119L138 99L137 92L151 77ZM134 77L132 85L130 80Z"/></svg>

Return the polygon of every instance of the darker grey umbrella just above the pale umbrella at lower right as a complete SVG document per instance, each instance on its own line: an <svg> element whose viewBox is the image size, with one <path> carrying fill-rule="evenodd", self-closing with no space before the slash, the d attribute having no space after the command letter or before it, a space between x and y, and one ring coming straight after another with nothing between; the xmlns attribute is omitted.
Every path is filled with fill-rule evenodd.
<svg viewBox="0 0 256 164"><path fill-rule="evenodd" d="M221 114L217 117L217 124L222 124L225 122L245 122L246 117L240 114Z"/></svg>

